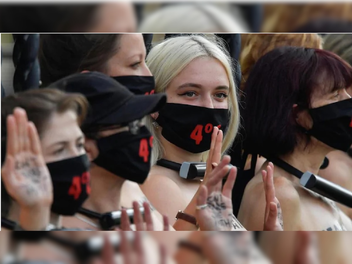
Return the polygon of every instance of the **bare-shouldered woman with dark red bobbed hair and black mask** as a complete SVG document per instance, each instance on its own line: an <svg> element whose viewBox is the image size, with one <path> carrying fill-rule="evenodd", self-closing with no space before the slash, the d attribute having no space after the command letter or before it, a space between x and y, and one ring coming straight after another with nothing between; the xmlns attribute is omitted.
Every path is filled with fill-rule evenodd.
<svg viewBox="0 0 352 264"><path fill-rule="evenodd" d="M296 178L301 175L294 175L317 175L329 152L352 145L352 99L346 91L351 84L352 68L340 57L297 47L268 52L249 75L244 150L264 156L262 168L269 161L277 165L274 186L284 230L352 230L334 202L303 188ZM247 230L263 226L264 195L258 173L245 188L238 214Z"/></svg>

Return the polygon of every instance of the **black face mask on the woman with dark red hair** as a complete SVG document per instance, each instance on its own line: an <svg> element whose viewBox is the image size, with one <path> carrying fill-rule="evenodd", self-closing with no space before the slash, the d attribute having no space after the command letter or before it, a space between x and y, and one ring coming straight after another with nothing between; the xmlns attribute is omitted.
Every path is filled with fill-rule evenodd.
<svg viewBox="0 0 352 264"><path fill-rule="evenodd" d="M309 109L313 127L308 131L326 145L347 152L352 145L352 99Z"/></svg>

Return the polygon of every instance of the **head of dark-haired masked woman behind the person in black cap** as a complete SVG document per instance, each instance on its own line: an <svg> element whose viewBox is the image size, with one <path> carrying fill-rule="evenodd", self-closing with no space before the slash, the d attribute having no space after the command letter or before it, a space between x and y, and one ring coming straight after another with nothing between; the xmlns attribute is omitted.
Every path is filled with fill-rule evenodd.
<svg viewBox="0 0 352 264"><path fill-rule="evenodd" d="M41 34L39 63L43 86L70 74L99 71L134 94L153 93L142 34Z"/></svg>

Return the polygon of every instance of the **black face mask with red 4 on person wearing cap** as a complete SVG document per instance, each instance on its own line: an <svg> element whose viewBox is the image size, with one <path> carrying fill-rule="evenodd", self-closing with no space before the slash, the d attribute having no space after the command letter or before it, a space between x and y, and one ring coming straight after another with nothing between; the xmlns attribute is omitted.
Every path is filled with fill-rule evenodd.
<svg viewBox="0 0 352 264"><path fill-rule="evenodd" d="M137 135L125 131L100 138L99 156L93 162L114 175L142 184L150 171L152 143L145 126Z"/></svg>

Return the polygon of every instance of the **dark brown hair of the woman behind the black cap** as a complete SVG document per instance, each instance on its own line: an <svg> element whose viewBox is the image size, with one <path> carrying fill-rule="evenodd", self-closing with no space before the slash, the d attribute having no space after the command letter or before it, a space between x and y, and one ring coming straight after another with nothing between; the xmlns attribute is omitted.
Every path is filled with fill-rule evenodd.
<svg viewBox="0 0 352 264"><path fill-rule="evenodd" d="M107 73L122 34L40 34L38 59L44 87L83 70Z"/></svg>

